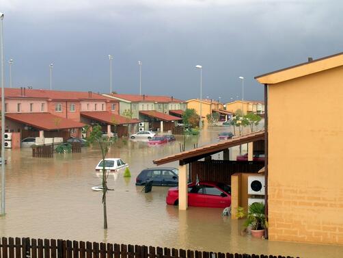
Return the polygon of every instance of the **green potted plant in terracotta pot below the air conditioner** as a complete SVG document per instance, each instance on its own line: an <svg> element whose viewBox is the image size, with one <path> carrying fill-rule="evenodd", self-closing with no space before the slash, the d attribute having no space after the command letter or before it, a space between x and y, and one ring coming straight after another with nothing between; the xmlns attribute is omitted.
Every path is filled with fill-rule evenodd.
<svg viewBox="0 0 343 258"><path fill-rule="evenodd" d="M266 217L264 216L264 204L253 203L249 205L245 227L251 227L253 237L262 237L267 227Z"/></svg>

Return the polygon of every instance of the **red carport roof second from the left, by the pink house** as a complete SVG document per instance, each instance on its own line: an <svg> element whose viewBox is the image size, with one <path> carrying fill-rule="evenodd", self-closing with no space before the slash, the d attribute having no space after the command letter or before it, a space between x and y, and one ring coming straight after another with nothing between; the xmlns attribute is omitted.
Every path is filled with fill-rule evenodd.
<svg viewBox="0 0 343 258"><path fill-rule="evenodd" d="M127 125L127 124L137 124L138 119L126 118L118 114L112 114L111 112L99 111L99 112L81 112L81 116L91 118L100 122L107 122L110 125Z"/></svg>

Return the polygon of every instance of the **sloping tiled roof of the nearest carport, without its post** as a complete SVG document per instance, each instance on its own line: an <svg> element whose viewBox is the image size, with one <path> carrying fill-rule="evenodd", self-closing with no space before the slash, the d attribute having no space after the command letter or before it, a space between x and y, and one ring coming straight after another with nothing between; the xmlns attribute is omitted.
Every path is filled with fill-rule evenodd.
<svg viewBox="0 0 343 258"><path fill-rule="evenodd" d="M215 144L208 144L196 149L192 149L190 151L183 151L182 153L177 153L171 156L163 157L162 159L155 159L153 162L156 165L162 165L176 161L180 161L184 164L187 164L189 162L192 162L193 160L202 159L203 157L219 153L230 147L246 144L248 142L255 142L258 140L264 140L264 130L248 133L244 136L238 136Z"/></svg>

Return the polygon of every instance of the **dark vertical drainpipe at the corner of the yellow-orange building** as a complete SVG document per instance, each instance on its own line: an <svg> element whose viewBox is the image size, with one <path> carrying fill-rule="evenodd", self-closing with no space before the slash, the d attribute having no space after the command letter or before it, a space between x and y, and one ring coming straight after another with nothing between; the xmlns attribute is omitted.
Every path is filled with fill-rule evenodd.
<svg viewBox="0 0 343 258"><path fill-rule="evenodd" d="M268 221L268 84L266 83L264 84L264 181L264 216ZM268 228L264 237L268 239Z"/></svg>

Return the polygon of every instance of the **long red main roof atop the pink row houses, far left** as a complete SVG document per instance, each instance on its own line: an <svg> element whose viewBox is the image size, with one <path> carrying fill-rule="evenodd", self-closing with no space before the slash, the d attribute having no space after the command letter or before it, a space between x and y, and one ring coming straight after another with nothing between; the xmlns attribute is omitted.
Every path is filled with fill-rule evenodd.
<svg viewBox="0 0 343 258"><path fill-rule="evenodd" d="M115 99L96 94L94 92L77 92L66 90L38 90L27 88L5 88L5 98L27 98L27 99L66 99L66 100L101 100L101 101L116 101ZM1 96L1 92L0 92Z"/></svg>

